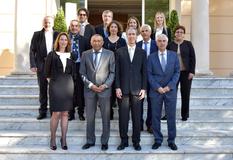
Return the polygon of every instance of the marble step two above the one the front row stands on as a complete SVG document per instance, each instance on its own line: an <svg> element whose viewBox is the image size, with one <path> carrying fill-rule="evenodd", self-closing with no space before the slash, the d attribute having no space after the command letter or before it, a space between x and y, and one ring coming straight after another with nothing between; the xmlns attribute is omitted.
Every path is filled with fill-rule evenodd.
<svg viewBox="0 0 233 160"><path fill-rule="evenodd" d="M0 131L2 130L20 130L20 131L48 131L50 119L46 118L43 120L37 120L36 118L6 118L0 117ZM161 122L161 128L167 129L167 122ZM95 120L96 128L102 128L102 120L97 118ZM232 119L204 119L195 120L189 119L188 121L176 121L177 130L200 130L200 129L223 129L223 130L233 130L233 118ZM132 123L129 121L129 130L132 128ZM146 126L144 124L144 129ZM85 131L86 121L73 120L69 122L70 131ZM111 121L111 131L119 130L119 121Z"/></svg>

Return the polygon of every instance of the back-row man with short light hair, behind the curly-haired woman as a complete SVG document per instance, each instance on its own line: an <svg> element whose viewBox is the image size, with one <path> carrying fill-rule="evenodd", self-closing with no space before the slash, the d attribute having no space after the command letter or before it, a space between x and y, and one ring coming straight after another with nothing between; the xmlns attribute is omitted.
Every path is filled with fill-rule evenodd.
<svg viewBox="0 0 233 160"><path fill-rule="evenodd" d="M107 38L108 31L107 26L112 22L113 19L113 12L110 10L105 10L102 13L103 24L99 24L95 27L95 32L100 34L103 38Z"/></svg>

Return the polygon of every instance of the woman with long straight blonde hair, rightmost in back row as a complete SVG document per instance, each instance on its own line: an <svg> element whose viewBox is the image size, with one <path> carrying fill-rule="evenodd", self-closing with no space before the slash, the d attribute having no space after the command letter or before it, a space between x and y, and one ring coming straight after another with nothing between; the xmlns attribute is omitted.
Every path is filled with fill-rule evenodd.
<svg viewBox="0 0 233 160"><path fill-rule="evenodd" d="M171 30L166 25L166 17L163 12L156 12L154 19L154 30L151 34L151 39L156 40L157 35L165 34L168 37L168 42L171 41Z"/></svg>

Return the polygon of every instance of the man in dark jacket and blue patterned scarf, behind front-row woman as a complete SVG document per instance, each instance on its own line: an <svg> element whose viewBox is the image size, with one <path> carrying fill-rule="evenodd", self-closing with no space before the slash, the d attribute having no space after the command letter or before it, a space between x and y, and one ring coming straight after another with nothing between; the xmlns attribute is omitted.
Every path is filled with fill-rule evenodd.
<svg viewBox="0 0 233 160"><path fill-rule="evenodd" d="M80 32L80 23L78 20L72 20L70 22L70 39L71 39L71 51L75 55L75 64L76 64L76 79L74 82L74 103L73 103L73 110L69 111L69 120L75 119L75 107L78 106L78 114L79 114L79 119L81 121L85 120L85 117L83 116L84 114L84 84L82 81L82 78L79 74L79 68L80 68L80 61L82 57L82 52L90 49L90 45L88 40L79 35Z"/></svg>

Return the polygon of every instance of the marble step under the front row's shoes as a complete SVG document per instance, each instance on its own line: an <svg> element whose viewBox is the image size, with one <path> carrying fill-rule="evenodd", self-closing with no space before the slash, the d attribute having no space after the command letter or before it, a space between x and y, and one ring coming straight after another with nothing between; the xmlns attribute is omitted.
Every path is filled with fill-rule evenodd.
<svg viewBox="0 0 233 160"><path fill-rule="evenodd" d="M232 160L233 145L180 145L177 151L161 146L152 150L150 145L142 146L141 151L135 151L132 146L123 151L117 151L115 145L110 145L107 151L101 151L100 146L82 150L81 146L70 146L67 151L58 146L56 151L47 145L28 145L23 147L0 147L0 159L10 160Z"/></svg>

